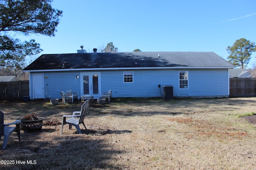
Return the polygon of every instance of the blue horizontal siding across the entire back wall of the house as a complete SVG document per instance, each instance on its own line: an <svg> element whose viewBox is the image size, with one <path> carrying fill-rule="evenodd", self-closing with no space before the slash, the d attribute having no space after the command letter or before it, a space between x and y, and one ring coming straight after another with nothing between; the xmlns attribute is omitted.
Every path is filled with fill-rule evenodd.
<svg viewBox="0 0 256 170"><path fill-rule="evenodd" d="M124 83L123 72L133 71L133 83ZM179 71L188 71L188 89L179 89ZM83 71L86 72L86 71ZM228 96L228 69L148 69L148 70L95 70L100 72L100 92L112 89L112 97L161 97L162 86L172 85L174 96ZM31 72L30 74L39 73ZM76 79L75 76L79 78ZM44 72L48 98L61 98L60 91L72 90L81 96L80 71ZM32 80L32 75L30 76ZM158 84L161 88L158 88ZM30 85L33 95L33 85Z"/></svg>

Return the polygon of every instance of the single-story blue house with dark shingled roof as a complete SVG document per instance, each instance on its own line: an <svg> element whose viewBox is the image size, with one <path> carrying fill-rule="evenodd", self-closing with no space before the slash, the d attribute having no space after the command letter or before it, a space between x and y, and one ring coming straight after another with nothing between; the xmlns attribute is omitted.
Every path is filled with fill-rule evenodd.
<svg viewBox="0 0 256 170"><path fill-rule="evenodd" d="M229 97L232 64L213 52L126 52L44 54L28 65L30 99L61 98L112 90L112 98L161 97L173 86L174 97Z"/></svg>

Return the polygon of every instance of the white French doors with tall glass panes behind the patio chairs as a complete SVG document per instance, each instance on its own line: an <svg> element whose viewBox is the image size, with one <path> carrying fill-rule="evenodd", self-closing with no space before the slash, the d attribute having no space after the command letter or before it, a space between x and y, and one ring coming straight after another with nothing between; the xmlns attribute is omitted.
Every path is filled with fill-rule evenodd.
<svg viewBox="0 0 256 170"><path fill-rule="evenodd" d="M81 73L82 96L90 95L94 98L100 98L100 73L90 72Z"/></svg>

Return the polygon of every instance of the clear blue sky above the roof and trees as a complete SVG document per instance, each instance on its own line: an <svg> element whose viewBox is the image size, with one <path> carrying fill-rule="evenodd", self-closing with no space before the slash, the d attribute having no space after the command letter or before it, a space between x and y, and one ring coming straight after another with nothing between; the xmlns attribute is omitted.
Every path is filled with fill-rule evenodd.
<svg viewBox="0 0 256 170"><path fill-rule="evenodd" d="M52 7L63 11L55 36L22 38L40 43L40 55L113 42L118 52L213 51L226 59L237 39L256 43L255 0L53 0Z"/></svg>

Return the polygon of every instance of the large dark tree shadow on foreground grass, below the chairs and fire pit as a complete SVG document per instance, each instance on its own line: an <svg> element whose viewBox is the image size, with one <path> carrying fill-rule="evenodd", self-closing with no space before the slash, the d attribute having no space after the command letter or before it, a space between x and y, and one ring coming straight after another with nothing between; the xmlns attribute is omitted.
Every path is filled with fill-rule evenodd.
<svg viewBox="0 0 256 170"><path fill-rule="evenodd" d="M92 135L122 134L131 131L109 129L82 130L87 134L63 134L51 136L48 129L22 134L22 141L11 137L5 150L0 150L0 160L15 160L14 164L3 164L2 169L123 169L128 165L113 165L117 155L125 151L113 149L117 142L109 143ZM46 134L48 133L48 134ZM50 135L50 137L49 137ZM15 153L15 154L14 154ZM16 160L25 161L17 164ZM27 160L36 160L28 164Z"/></svg>

